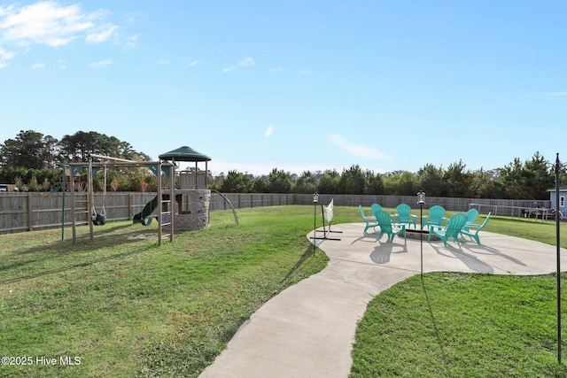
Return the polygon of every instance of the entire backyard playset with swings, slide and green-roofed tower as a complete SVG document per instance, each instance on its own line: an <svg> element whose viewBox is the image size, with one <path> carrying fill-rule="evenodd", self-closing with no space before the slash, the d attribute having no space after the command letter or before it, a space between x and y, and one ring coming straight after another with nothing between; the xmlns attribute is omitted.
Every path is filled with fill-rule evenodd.
<svg viewBox="0 0 567 378"><path fill-rule="evenodd" d="M98 161L93 161L97 159ZM147 167L158 178L157 195L150 202L144 205L141 212L134 215L133 223L140 223L143 226L150 226L152 220L159 222L159 245L164 237L169 236L171 242L174 241L174 234L178 231L197 230L208 228L209 226L209 203L211 200L211 190L207 189L206 174L208 172L207 162L211 160L208 156L192 150L190 147L183 146L176 150L159 155L159 161L132 161L122 158L111 158L100 155L90 155L88 163L68 163L62 165L64 169L64 188L63 188L63 207L65 208L65 183L66 175L74 177L82 169L89 170L87 189L87 202L90 209L89 231L90 239L93 239L94 226L104 225L106 222L105 195L106 195L106 170L113 167ZM176 174L175 170L180 162L194 162L195 167L187 168ZM198 163L205 162L205 170L198 169ZM101 186L103 190L102 207L99 211L95 208L93 177L100 169L104 169L105 184ZM163 176L167 181L163 181ZM178 184L176 187L176 183ZM167 189L165 189L167 187ZM227 197L219 194L230 206L234 213L235 221L238 223L237 212ZM76 199L74 190L71 190L71 212L73 225L73 243L76 243ZM84 209L84 204L82 209ZM63 212L65 214L65 212ZM65 217L65 215L63 215ZM62 220L65 224L65 219ZM63 232L62 232L63 235ZM63 236L62 236L63 237Z"/></svg>

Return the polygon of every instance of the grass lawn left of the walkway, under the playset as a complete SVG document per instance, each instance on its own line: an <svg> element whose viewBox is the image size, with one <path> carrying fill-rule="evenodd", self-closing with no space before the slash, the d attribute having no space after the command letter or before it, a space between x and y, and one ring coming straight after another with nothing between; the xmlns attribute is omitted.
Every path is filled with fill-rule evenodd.
<svg viewBox="0 0 567 378"><path fill-rule="evenodd" d="M326 265L306 238L312 211L251 209L239 225L214 212L161 247L144 239L157 228L128 222L93 241L80 228L76 245L70 229L0 235L0 351L31 362L0 375L197 376L260 305Z"/></svg>

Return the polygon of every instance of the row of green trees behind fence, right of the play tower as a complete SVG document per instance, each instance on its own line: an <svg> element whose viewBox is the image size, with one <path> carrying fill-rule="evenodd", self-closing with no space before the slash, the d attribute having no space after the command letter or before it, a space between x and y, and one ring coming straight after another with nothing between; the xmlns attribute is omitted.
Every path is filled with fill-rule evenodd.
<svg viewBox="0 0 567 378"><path fill-rule="evenodd" d="M561 165L565 182L565 165ZM548 189L555 188L555 167L536 151L532 158L519 158L508 165L485 171L470 171L462 161L443 169L426 164L416 173L398 171L375 174L351 166L338 173L303 172L299 176L274 169L268 176L253 177L235 171L215 180L214 189L222 192L318 193L415 196L423 190L430 197L503 198L545 200Z"/></svg>

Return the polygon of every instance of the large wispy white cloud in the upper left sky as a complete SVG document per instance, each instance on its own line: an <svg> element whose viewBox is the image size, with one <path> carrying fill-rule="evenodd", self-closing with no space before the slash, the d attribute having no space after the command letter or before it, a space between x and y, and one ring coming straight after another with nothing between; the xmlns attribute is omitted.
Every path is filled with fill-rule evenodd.
<svg viewBox="0 0 567 378"><path fill-rule="evenodd" d="M0 37L22 45L64 46L75 39L89 43L108 40L118 27L98 24L108 12L85 12L79 4L41 1L25 6L0 7Z"/></svg>

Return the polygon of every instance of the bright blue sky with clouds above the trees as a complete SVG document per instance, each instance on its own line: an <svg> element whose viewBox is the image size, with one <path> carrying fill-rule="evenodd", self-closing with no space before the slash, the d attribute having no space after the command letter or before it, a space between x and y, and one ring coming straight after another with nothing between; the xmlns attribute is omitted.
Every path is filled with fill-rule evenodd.
<svg viewBox="0 0 567 378"><path fill-rule="evenodd" d="M565 1L0 4L0 142L113 135L301 174L567 160Z"/></svg>

